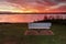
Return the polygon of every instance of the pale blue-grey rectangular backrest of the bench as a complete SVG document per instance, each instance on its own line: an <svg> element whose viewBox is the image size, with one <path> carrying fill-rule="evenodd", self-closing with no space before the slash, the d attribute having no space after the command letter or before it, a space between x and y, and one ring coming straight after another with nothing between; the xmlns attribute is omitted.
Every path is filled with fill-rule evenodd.
<svg viewBox="0 0 66 44"><path fill-rule="evenodd" d="M51 29L52 23L29 23L29 29Z"/></svg>

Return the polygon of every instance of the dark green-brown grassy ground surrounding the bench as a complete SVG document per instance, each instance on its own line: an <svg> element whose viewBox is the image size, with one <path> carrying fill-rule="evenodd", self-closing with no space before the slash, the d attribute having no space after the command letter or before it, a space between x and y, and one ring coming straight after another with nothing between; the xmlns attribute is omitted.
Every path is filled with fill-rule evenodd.
<svg viewBox="0 0 66 44"><path fill-rule="evenodd" d="M66 44L66 25L53 24L54 35L24 35L28 24L0 24L0 44Z"/></svg>

